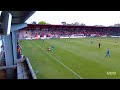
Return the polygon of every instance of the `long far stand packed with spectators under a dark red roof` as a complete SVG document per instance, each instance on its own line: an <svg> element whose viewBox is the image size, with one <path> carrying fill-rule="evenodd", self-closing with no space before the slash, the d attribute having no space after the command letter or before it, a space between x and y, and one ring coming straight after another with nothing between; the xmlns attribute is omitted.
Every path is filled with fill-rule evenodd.
<svg viewBox="0 0 120 90"><path fill-rule="evenodd" d="M19 30L19 39L60 38L70 37L74 34L92 37L120 36L120 28L28 24L27 27Z"/></svg>

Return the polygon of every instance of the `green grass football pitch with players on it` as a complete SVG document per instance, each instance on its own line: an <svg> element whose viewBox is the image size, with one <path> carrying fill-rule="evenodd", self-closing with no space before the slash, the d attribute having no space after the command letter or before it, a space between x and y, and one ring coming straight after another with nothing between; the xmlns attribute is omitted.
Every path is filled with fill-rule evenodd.
<svg viewBox="0 0 120 90"><path fill-rule="evenodd" d="M119 38L22 40L20 44L37 79L120 79ZM47 51L51 45L54 49ZM107 48L110 58L105 57Z"/></svg>

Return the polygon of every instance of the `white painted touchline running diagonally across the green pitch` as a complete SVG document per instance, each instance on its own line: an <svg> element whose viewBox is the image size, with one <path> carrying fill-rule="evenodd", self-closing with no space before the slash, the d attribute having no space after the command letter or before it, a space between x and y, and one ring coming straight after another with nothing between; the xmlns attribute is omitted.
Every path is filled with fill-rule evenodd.
<svg viewBox="0 0 120 90"><path fill-rule="evenodd" d="M33 41L32 41L33 42ZM33 42L36 46L38 46L39 48L41 48L39 45L37 45L35 42ZM43 48L41 48L44 52L46 52ZM78 76L80 79L83 79L81 76L79 76L77 73L75 73L73 70L71 70L69 67L67 67L66 65L64 65L62 62L60 62L57 58L55 58L54 56L52 56L51 54L49 54L48 52L46 52L48 55L50 55L52 58L54 58L56 61L58 61L60 64L62 64L65 68L67 68L69 71L71 71L73 74L75 74L76 76Z"/></svg>

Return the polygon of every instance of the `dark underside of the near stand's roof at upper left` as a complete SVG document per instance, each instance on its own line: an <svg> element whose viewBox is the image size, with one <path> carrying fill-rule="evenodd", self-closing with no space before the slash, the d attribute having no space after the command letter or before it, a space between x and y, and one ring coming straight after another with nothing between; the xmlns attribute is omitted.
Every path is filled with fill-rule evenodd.
<svg viewBox="0 0 120 90"><path fill-rule="evenodd" d="M24 23L31 15L35 13L35 11L2 11L4 13L12 14L12 24Z"/></svg>

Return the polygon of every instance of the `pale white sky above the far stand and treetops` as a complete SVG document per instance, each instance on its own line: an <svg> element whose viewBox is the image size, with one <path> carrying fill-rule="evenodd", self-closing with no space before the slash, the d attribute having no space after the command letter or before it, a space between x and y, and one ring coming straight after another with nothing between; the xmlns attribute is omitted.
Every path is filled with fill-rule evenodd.
<svg viewBox="0 0 120 90"><path fill-rule="evenodd" d="M50 24L79 22L86 25L110 26L120 23L120 11L36 11L26 22L45 21Z"/></svg>

